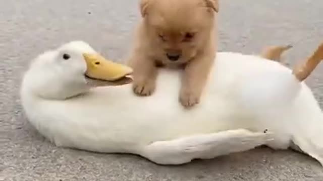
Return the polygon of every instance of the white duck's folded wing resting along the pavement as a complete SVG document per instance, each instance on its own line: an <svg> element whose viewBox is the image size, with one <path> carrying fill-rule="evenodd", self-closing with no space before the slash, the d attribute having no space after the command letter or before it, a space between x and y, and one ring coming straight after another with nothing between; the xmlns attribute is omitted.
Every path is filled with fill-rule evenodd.
<svg viewBox="0 0 323 181"><path fill-rule="evenodd" d="M141 155L157 164L183 164L192 159L210 159L247 151L266 144L272 137L273 134L266 131L228 130L153 142L144 148Z"/></svg>

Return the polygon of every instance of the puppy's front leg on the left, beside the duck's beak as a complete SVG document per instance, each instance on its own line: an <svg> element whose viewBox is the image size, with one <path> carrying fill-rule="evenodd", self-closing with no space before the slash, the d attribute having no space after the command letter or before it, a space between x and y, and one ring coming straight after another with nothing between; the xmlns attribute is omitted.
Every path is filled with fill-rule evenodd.
<svg viewBox="0 0 323 181"><path fill-rule="evenodd" d="M150 96L156 86L157 67L154 60L136 54L128 65L133 68L133 92L138 96Z"/></svg>

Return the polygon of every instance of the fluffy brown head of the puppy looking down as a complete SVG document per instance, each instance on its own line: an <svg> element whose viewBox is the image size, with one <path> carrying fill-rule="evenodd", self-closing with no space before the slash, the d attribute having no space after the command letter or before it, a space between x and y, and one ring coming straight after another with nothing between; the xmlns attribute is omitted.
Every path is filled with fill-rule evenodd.
<svg viewBox="0 0 323 181"><path fill-rule="evenodd" d="M210 40L219 0L141 0L153 53L164 63L185 63Z"/></svg>

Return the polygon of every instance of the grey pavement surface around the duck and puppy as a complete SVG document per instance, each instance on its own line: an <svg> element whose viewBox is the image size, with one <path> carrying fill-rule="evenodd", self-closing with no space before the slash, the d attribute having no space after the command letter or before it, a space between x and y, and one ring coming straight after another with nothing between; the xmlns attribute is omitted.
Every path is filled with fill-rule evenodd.
<svg viewBox="0 0 323 181"><path fill-rule="evenodd" d="M292 44L293 65L323 41L323 1L220 1L220 50L258 53ZM27 122L19 99L22 72L44 50L84 40L115 60L129 48L139 18L135 0L0 0L0 180L323 180L314 159L294 151L258 148L159 166L141 157L57 148ZM323 100L320 65L307 79ZM322 133L323 134L323 133Z"/></svg>

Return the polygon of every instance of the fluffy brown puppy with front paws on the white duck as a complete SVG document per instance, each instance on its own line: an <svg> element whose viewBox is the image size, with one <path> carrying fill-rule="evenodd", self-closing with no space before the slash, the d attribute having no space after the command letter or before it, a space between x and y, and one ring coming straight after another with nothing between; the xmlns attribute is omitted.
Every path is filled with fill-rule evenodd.
<svg viewBox="0 0 323 181"><path fill-rule="evenodd" d="M129 59L133 91L154 92L157 66L183 67L179 101L199 103L217 52L218 0L141 0L142 21Z"/></svg>

